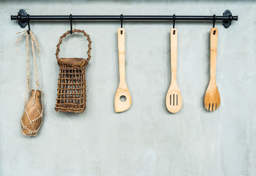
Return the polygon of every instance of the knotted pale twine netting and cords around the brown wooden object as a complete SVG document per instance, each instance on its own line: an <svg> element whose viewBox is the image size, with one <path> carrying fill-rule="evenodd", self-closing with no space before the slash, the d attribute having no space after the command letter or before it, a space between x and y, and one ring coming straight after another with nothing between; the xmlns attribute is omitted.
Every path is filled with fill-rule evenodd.
<svg viewBox="0 0 256 176"><path fill-rule="evenodd" d="M17 40L17 45L19 45L19 42L21 40L21 38L23 37L24 34L26 34L26 100L25 100L25 107L24 107L24 111L23 111L23 115L26 114L26 116L29 119L29 123L24 125L23 124L23 118L21 118L21 132L26 135L26 136L36 136L37 135L37 131L40 129L41 125L42 125L42 121L43 121L43 94L42 94L42 89L40 87L39 81L38 81L38 76L37 76L37 59L35 56L35 48L34 45L36 45L36 49L37 49L37 54L39 56L40 54L40 48L39 45L37 43L37 39L34 37L34 34L32 31L23 31L23 32L18 32L17 34L21 34L21 36L18 38ZM28 105L27 100L29 100L29 92L30 92L30 81L29 81L29 36L31 39L31 45L32 45L32 56L33 56L33 62L34 62L34 72L35 72L35 78L36 78L36 84L35 84L35 88L34 88L34 94L33 94L33 99L32 99L32 103ZM18 50L18 48L17 48ZM37 90L37 87L40 89ZM33 92L33 91L32 91ZM36 94L37 96L41 95L41 104L42 104L42 109L40 111L40 109L38 109L38 107L36 106ZM38 95L39 94L39 95ZM32 119L32 117L29 117L29 113L28 110L30 108L36 109L37 113L39 114L37 116L37 118ZM31 116L33 116L34 114L30 114ZM37 125L39 124L39 126L34 126L34 124ZM26 133L24 133L24 131L26 131Z"/></svg>

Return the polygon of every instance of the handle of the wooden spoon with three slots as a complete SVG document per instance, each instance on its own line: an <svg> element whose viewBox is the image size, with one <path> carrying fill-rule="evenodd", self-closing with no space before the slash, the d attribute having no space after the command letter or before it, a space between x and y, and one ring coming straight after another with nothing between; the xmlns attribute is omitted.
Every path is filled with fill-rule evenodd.
<svg viewBox="0 0 256 176"><path fill-rule="evenodd" d="M178 31L177 29L171 29L171 70L172 70L172 82L177 81L177 44L178 44Z"/></svg>

